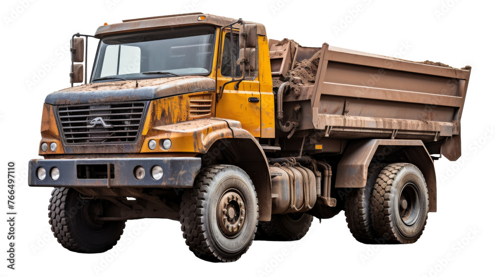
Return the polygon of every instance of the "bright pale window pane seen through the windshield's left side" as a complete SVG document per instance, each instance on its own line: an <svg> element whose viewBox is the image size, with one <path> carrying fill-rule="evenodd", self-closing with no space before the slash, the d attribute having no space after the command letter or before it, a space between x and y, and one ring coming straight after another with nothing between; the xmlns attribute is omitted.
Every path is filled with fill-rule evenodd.
<svg viewBox="0 0 495 277"><path fill-rule="evenodd" d="M109 45L101 67L101 77L139 73L141 48L128 45Z"/></svg>

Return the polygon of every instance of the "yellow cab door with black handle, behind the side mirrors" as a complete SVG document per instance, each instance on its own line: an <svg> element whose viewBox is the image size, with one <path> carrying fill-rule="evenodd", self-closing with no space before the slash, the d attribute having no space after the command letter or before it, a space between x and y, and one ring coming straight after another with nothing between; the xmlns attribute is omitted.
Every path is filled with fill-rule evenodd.
<svg viewBox="0 0 495 277"><path fill-rule="evenodd" d="M225 28L220 38L223 40L220 62L217 65L217 90L225 83L232 80L231 62L234 62L236 79L242 78L240 66L237 65L239 58L239 31L233 32L233 40L230 29ZM231 57L231 45L234 44L234 58ZM216 117L240 121L243 129L247 130L253 137L261 136L261 103L259 93L259 79L256 74L254 80L242 81L239 90L234 86L237 82L227 84L220 100L216 104Z"/></svg>

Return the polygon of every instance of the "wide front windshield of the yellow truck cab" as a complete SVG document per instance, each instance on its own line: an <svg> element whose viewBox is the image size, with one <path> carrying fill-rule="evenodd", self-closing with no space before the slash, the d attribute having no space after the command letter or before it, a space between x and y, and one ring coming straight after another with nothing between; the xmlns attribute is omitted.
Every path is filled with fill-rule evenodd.
<svg viewBox="0 0 495 277"><path fill-rule="evenodd" d="M209 75L214 33L204 25L103 38L92 82Z"/></svg>

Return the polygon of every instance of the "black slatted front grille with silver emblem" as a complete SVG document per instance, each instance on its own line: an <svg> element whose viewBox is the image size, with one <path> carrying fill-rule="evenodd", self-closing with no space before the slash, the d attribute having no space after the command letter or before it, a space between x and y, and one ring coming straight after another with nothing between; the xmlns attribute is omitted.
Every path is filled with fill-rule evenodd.
<svg viewBox="0 0 495 277"><path fill-rule="evenodd" d="M59 106L60 133L67 144L135 143L145 107L145 102Z"/></svg>

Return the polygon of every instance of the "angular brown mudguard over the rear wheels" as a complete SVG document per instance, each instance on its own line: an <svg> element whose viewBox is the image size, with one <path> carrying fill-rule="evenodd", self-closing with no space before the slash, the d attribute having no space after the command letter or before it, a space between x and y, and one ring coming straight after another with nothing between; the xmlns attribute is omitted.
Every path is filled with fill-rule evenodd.
<svg viewBox="0 0 495 277"><path fill-rule="evenodd" d="M349 142L337 166L335 187L364 187L368 167L400 157L419 168L428 188L429 212L437 211L437 177L433 160L421 140L367 139ZM395 161L398 162L398 161Z"/></svg>

